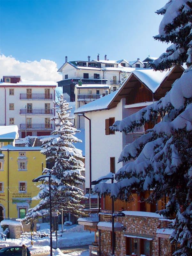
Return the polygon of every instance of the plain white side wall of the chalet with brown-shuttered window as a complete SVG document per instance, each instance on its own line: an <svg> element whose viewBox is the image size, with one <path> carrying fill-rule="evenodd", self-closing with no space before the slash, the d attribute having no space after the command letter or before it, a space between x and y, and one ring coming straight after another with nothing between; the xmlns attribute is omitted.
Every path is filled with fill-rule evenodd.
<svg viewBox="0 0 192 256"><path fill-rule="evenodd" d="M117 164L122 151L122 133L105 135L105 119L115 117L122 119L122 102L116 108L86 113L91 119L91 156L92 156L92 180L110 172L110 157L115 157L116 172L122 167ZM85 119L85 187L89 188L89 121Z"/></svg>

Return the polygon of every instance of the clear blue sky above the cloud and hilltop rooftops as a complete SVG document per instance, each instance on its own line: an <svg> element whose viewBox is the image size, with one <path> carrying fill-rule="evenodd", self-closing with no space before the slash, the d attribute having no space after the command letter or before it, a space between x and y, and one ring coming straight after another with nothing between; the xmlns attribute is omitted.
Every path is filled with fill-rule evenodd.
<svg viewBox="0 0 192 256"><path fill-rule="evenodd" d="M167 0L0 0L0 53L20 62L158 57ZM10 74L11 75L11 74Z"/></svg>

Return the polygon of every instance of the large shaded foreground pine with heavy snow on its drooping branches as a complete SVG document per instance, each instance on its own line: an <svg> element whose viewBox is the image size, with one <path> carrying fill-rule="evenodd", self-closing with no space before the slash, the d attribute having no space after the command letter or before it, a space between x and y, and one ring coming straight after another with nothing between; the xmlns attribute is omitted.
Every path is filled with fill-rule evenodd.
<svg viewBox="0 0 192 256"><path fill-rule="evenodd" d="M148 202L169 197L159 213L174 214L171 242L180 248L174 255L192 255L192 0L170 0L157 11L164 17L156 40L171 42L152 66L169 69L186 63L187 69L172 89L152 105L116 121L113 129L132 132L161 116L161 122L122 151L119 161L133 160L116 173L116 183L98 184L95 191L129 200L132 189L138 193L153 190Z"/></svg>

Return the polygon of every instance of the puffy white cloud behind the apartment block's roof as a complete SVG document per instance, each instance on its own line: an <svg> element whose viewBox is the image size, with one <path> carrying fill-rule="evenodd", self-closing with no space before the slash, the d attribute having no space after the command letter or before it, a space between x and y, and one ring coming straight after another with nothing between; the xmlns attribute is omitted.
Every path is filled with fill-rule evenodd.
<svg viewBox="0 0 192 256"><path fill-rule="evenodd" d="M52 60L26 61L16 60L11 55L0 54L0 78L3 76L21 76L32 81L60 81L62 75L57 72L57 64Z"/></svg>

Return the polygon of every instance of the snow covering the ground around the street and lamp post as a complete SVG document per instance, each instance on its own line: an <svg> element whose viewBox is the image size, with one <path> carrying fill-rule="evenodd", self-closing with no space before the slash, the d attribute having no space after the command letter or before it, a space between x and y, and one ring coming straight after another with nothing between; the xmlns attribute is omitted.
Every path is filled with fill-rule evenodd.
<svg viewBox="0 0 192 256"><path fill-rule="evenodd" d="M12 245L22 245L25 244L31 251L31 254L39 254L45 253L49 254L50 252L50 237L47 236L50 234L49 223L40 223L40 229L37 232L34 232L34 236L32 236L33 245L31 245L31 232L25 232L25 235L21 235L19 239L9 239L6 241L4 238L0 236L0 248L5 246ZM57 247L65 248L65 247L74 247L81 245L88 245L94 241L94 232L85 231L83 225L71 225L71 226L63 226L63 233L61 233L61 224L59 224L59 230L57 231ZM0 227L0 232L3 233L2 228ZM45 234L45 237L39 236ZM62 234L62 237L60 236ZM52 233L52 245L53 248L56 249L56 236L55 232ZM60 249L53 249L53 255L59 256L88 256L89 251L83 252L70 252L68 254L63 254Z"/></svg>

